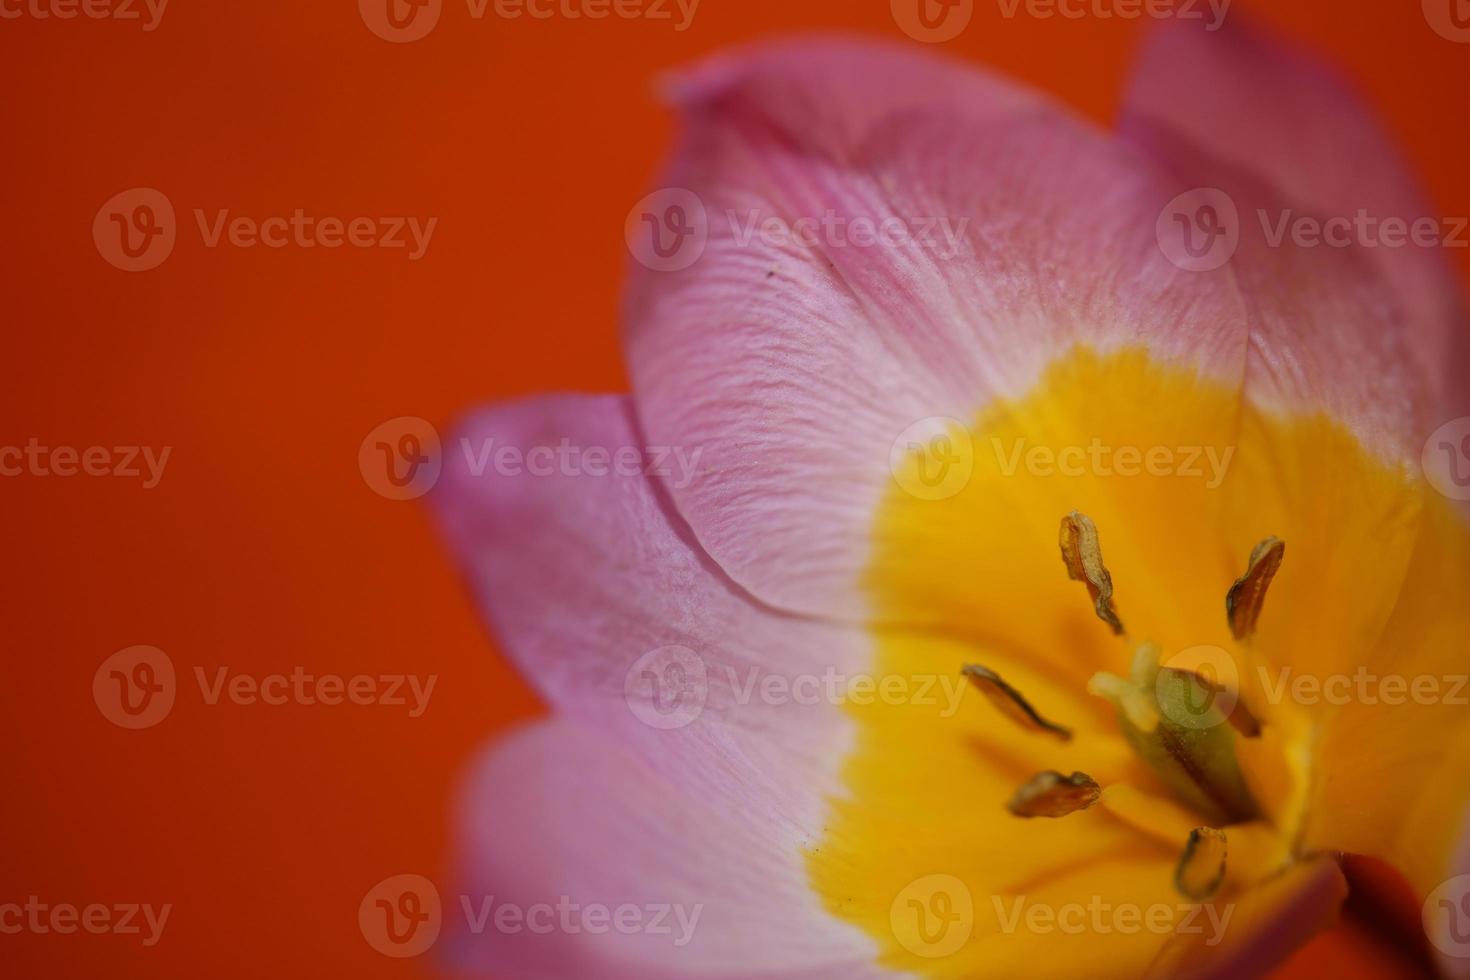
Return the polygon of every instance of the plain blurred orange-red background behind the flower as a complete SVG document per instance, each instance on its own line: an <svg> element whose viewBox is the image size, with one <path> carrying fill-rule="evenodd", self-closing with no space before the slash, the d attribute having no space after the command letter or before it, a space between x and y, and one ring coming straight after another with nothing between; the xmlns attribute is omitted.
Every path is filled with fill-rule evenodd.
<svg viewBox="0 0 1470 980"><path fill-rule="evenodd" d="M1114 115L1141 24L978 6L944 47ZM1470 215L1470 46L1407 0L1241 9L1344 63L1441 213ZM623 389L623 219L670 141L650 81L811 28L903 40L886 0L704 0L682 34L472 21L448 0L413 44L370 34L353 0L173 0L153 32L0 21L0 445L172 447L151 491L0 479L0 904L175 907L153 949L0 936L6 976L434 974L432 956L372 951L357 904L390 874L444 876L457 773L541 708L484 635L425 508L365 485L359 444L395 416L442 429L487 400ZM125 273L91 223L140 185L173 201L179 242L162 267ZM420 262L206 248L196 207L440 223ZM135 644L173 658L181 693L162 724L126 732L90 692L97 666ZM434 673L438 686L422 718L209 707L191 671L222 666ZM1298 968L1348 976L1379 959L1347 942L1319 940Z"/></svg>

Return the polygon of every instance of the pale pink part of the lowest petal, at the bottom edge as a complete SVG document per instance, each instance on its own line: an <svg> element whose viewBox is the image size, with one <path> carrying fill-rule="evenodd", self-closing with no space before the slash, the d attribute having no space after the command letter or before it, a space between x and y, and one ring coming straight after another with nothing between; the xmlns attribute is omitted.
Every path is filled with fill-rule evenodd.
<svg viewBox="0 0 1470 980"><path fill-rule="evenodd" d="M485 896L520 909L634 905L637 926L592 934L572 912L556 920L570 927L545 932L551 912L538 911L528 921L541 932L475 934L451 917L453 958L497 977L883 976L873 942L822 909L761 807L695 799L570 720L535 726L488 752L466 786L462 893L476 911Z"/></svg>

